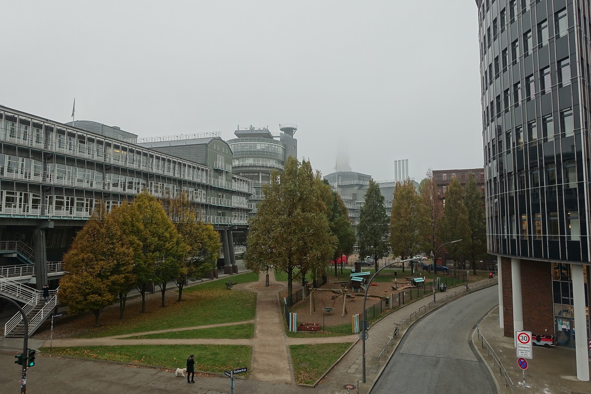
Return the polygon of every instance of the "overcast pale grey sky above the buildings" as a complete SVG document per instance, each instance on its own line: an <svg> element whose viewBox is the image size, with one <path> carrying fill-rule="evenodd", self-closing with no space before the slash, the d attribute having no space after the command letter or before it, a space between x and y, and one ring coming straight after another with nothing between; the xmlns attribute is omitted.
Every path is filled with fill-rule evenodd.
<svg viewBox="0 0 591 394"><path fill-rule="evenodd" d="M141 137L297 123L298 155L394 177L482 167L473 0L2 5L2 105Z"/></svg>

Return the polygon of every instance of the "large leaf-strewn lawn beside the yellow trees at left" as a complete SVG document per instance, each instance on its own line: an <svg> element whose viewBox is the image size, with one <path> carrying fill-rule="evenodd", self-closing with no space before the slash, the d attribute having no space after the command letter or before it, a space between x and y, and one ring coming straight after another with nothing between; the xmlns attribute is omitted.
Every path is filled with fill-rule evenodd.
<svg viewBox="0 0 591 394"><path fill-rule="evenodd" d="M258 275L252 272L232 276L238 283L248 283ZM116 325L91 328L78 338L108 337L169 328L233 323L255 318L256 293L226 289L224 279L184 289L183 301L159 308L156 312L135 315Z"/></svg>

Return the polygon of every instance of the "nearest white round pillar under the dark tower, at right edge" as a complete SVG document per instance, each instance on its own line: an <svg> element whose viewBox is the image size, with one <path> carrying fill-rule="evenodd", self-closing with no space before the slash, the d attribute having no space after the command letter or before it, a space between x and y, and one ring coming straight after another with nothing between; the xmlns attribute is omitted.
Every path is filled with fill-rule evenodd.
<svg viewBox="0 0 591 394"><path fill-rule="evenodd" d="M577 355L577 379L589 382L589 356L587 356L587 316L582 265L570 265L573 278L574 346Z"/></svg>

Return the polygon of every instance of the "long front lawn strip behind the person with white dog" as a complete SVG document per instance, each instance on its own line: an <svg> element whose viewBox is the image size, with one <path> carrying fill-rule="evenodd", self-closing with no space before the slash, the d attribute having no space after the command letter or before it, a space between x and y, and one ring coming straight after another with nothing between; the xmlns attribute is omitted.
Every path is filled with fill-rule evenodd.
<svg viewBox="0 0 591 394"><path fill-rule="evenodd" d="M224 370L251 366L252 348L243 345L118 345L73 346L40 349L53 356L80 357L141 364L168 369L184 368L187 357L195 355L195 370L223 373Z"/></svg>

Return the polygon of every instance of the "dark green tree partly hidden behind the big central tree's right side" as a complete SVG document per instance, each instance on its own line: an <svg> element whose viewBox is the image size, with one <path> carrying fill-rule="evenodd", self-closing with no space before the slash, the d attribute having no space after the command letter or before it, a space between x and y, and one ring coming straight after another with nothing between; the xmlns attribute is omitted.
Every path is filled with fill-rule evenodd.
<svg viewBox="0 0 591 394"><path fill-rule="evenodd" d="M337 259L342 255L349 256L353 253L355 245L355 230L349 221L349 210L340 198L339 193L330 188L327 180L319 183L320 196L326 206L326 217L329 220L330 232L336 237L337 244L332 259L335 265L335 276L337 273Z"/></svg>

